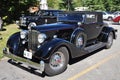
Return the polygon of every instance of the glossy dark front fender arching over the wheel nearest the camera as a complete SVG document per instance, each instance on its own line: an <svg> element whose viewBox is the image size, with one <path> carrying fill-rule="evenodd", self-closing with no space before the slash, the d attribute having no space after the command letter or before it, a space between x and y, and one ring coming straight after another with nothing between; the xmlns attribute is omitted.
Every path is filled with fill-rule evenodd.
<svg viewBox="0 0 120 80"><path fill-rule="evenodd" d="M52 39L42 45L35 53L35 56L39 59L49 59L50 55L61 46L67 47L67 49L69 50L70 44L70 42L67 42L63 39Z"/></svg>

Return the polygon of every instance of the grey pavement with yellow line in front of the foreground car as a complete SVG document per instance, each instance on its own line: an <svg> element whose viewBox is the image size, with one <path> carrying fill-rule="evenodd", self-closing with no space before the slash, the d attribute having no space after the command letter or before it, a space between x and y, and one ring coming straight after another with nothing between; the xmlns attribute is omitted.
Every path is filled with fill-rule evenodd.
<svg viewBox="0 0 120 80"><path fill-rule="evenodd" d="M120 25L111 25L120 30ZM0 61L0 80L120 80L120 32L111 49L101 49L92 55L75 59L75 63L57 76L42 77L38 72L13 65L8 58Z"/></svg>

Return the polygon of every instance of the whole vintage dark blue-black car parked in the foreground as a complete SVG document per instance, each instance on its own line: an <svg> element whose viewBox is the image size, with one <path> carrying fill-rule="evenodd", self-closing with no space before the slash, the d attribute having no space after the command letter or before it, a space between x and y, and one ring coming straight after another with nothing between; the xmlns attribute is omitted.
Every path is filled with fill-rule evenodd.
<svg viewBox="0 0 120 80"><path fill-rule="evenodd" d="M53 76L65 71L71 59L110 48L116 39L116 30L104 25L101 12L62 12L57 20L13 34L4 54Z"/></svg>

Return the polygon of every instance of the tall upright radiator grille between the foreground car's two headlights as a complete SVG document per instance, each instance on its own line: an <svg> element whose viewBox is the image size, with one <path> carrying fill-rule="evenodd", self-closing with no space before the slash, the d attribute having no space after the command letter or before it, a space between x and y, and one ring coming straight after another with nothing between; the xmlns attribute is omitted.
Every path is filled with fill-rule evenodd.
<svg viewBox="0 0 120 80"><path fill-rule="evenodd" d="M29 31L28 34L28 48L33 52L37 50L38 46L38 34L39 32L36 30Z"/></svg>

